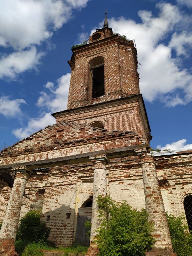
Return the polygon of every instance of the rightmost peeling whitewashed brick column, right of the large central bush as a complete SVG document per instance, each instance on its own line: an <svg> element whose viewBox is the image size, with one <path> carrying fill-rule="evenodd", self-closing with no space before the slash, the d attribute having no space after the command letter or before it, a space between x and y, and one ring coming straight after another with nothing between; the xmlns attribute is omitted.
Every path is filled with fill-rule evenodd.
<svg viewBox="0 0 192 256"><path fill-rule="evenodd" d="M153 223L152 235L156 242L152 248L152 252L146 255L171 255L173 253L171 237L169 233L167 218L163 199L157 179L154 158L147 153L141 156L141 167L143 173L143 184L145 193L145 205L148 213L148 221ZM155 254L153 253L155 252ZM158 252L158 254L156 254Z"/></svg>

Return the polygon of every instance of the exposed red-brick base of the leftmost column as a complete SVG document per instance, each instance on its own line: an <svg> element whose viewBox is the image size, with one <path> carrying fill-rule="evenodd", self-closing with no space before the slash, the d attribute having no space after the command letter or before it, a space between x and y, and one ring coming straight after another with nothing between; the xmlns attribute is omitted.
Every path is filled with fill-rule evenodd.
<svg viewBox="0 0 192 256"><path fill-rule="evenodd" d="M18 256L14 244L14 239L0 238L0 256Z"/></svg>

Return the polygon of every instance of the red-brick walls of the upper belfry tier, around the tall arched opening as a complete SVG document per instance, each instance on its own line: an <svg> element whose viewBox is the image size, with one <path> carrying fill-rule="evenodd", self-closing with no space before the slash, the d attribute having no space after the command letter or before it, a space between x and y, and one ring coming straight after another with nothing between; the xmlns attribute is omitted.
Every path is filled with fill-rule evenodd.
<svg viewBox="0 0 192 256"><path fill-rule="evenodd" d="M105 95L91 99L90 61L104 58ZM69 61L72 77L68 98L68 109L118 99L122 96L139 94L137 58L133 41L123 41L116 35L73 49ZM91 90L91 92L90 92Z"/></svg>

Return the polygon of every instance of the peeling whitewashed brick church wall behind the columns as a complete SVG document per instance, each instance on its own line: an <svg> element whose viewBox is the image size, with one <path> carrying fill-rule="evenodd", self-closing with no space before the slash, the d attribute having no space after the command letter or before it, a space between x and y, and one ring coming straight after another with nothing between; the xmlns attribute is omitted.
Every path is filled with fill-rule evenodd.
<svg viewBox="0 0 192 256"><path fill-rule="evenodd" d="M192 194L191 159L191 154L155 159L168 214L183 214L183 199ZM51 167L49 171L34 174L27 181L26 194L30 200L23 198L27 208L21 214L29 209L42 208L42 220L51 228L50 239L57 245L68 246L74 241L78 208L93 195L92 167L90 163ZM107 190L112 199L117 202L126 200L137 210L145 208L142 170L138 157L111 159L106 167ZM43 194L38 193L44 189ZM5 187L0 194L0 221L5 214L9 193L10 189ZM37 204L39 197L43 198L43 203Z"/></svg>

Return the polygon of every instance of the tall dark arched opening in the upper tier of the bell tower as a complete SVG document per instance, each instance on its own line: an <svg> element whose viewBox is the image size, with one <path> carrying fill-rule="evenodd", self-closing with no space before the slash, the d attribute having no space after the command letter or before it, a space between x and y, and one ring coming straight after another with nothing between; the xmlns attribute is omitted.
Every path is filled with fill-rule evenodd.
<svg viewBox="0 0 192 256"><path fill-rule="evenodd" d="M95 57L89 63L92 77L92 99L104 95L104 58Z"/></svg>

